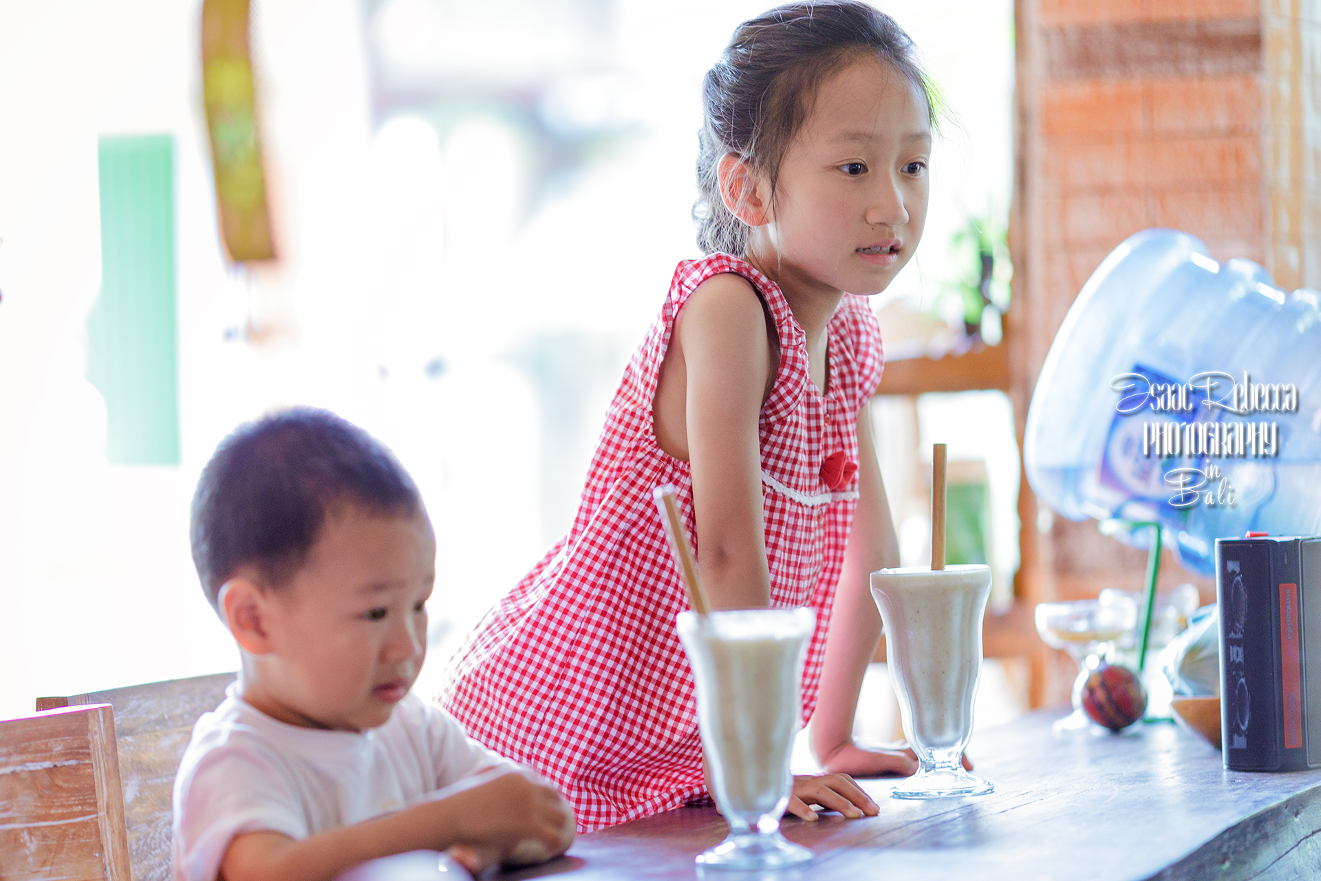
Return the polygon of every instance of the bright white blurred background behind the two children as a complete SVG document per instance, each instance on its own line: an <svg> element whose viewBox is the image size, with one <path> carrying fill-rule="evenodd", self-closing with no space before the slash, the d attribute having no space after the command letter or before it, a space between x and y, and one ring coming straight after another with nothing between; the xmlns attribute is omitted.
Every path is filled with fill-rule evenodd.
<svg viewBox="0 0 1321 881"><path fill-rule="evenodd" d="M236 667L197 585L188 503L231 428L295 403L362 424L421 486L439 538L439 672L568 526L620 371L675 263L697 256L700 78L766 5L255 0L281 259L244 272L217 235L201 3L0 0L0 717L38 695ZM951 236L1008 215L1012 3L877 5L956 115L919 256L881 295L930 310L956 273ZM96 144L124 133L174 143L177 466L108 464L106 404L86 378ZM985 460L1007 582L1017 454L1004 396L925 396L921 431L892 424L908 411L877 411L905 556L922 555L923 520L904 499L925 489L893 462L935 432L952 457ZM1013 712L1012 697L980 705Z"/></svg>

